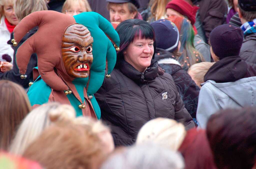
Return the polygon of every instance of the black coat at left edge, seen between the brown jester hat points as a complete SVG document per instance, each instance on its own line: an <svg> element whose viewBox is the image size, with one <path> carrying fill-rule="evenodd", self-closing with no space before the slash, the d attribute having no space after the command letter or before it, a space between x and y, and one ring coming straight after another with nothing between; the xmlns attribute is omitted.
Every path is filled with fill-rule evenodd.
<svg viewBox="0 0 256 169"><path fill-rule="evenodd" d="M30 36L34 35L37 31L38 27L35 27L33 29L31 29L20 41L20 43L18 43L17 46L13 46L14 49L14 55L13 55L13 69L10 71L7 71L5 73L0 72L0 80L5 79L5 80L10 80L12 82L18 83L20 85L22 85L24 88L28 88L28 83L29 82L33 82L33 68L37 67L37 56L36 54L32 54L31 58L28 62L28 66L27 66L27 71L26 71L26 75L28 76L26 79L20 79L20 73L19 73L19 69L17 67L16 64L16 56L15 53L18 49L18 47L25 42ZM11 34L11 39L13 39L13 33ZM8 41L8 44L12 45L11 41Z"/></svg>

